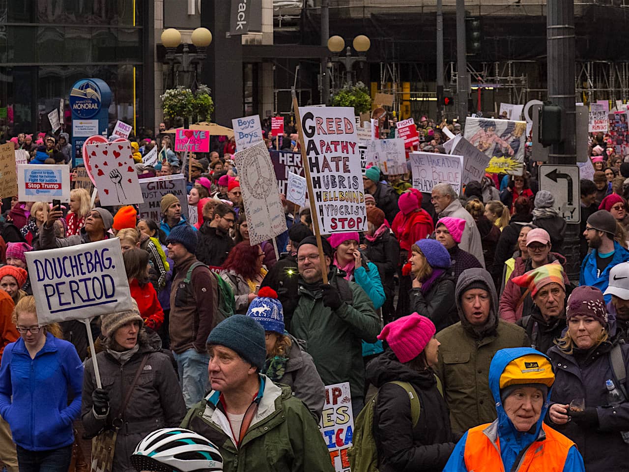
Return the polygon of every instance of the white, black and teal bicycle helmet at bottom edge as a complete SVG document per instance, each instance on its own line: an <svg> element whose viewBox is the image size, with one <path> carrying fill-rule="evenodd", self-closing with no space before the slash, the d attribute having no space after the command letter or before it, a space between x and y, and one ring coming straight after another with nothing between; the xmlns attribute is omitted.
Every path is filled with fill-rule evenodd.
<svg viewBox="0 0 629 472"><path fill-rule="evenodd" d="M181 428L158 429L148 434L131 454L138 472L222 471L223 458L208 439Z"/></svg>

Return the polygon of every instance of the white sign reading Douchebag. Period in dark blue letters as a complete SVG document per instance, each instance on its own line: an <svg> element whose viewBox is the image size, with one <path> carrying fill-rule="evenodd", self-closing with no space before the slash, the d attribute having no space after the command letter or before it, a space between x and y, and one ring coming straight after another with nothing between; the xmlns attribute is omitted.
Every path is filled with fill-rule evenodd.
<svg viewBox="0 0 629 472"><path fill-rule="evenodd" d="M40 325L131 310L115 238L26 253Z"/></svg>

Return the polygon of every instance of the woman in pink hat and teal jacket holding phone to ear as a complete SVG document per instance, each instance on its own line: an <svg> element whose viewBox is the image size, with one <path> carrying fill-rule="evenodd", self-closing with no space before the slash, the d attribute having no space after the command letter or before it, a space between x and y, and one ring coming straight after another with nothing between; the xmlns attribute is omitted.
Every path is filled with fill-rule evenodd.
<svg viewBox="0 0 629 472"><path fill-rule="evenodd" d="M382 279L376 264L368 261L367 257L359 250L359 233L335 233L328 238L328 241L332 245L332 249L334 249L335 266L345 272L346 280L359 284L360 288L371 299L374 308L379 310L386 301L384 286L382 286ZM382 341L376 341L374 344L362 342L363 357L374 356L381 352Z"/></svg>

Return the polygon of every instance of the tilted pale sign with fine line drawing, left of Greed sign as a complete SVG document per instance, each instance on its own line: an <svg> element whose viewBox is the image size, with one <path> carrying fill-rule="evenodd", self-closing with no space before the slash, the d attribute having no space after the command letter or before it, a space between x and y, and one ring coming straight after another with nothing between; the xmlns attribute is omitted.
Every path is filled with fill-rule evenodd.
<svg viewBox="0 0 629 472"><path fill-rule="evenodd" d="M264 141L238 151L234 161L240 177L250 244L260 244L286 231L284 207Z"/></svg>

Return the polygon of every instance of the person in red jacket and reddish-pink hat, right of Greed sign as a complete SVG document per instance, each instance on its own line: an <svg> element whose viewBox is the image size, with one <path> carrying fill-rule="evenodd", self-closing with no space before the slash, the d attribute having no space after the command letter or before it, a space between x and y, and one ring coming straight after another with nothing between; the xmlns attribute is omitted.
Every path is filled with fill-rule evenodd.
<svg viewBox="0 0 629 472"><path fill-rule="evenodd" d="M425 239L435 230L435 223L428 212L421 208L423 195L416 189L409 189L399 196L399 212L391 223L391 230L399 242L399 259L395 262L399 267L403 267L411 255L411 246L415 241ZM410 306L408 304L408 292L411 289L411 280L404 277L398 271L399 292L398 306L396 307L396 317L408 315Z"/></svg>

